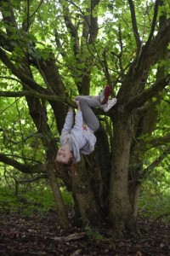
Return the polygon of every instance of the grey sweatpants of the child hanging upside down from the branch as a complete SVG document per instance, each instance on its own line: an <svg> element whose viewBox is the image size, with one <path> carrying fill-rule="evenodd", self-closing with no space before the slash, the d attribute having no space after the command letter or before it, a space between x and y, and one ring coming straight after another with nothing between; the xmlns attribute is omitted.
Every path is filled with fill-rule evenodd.
<svg viewBox="0 0 170 256"><path fill-rule="evenodd" d="M76 96L76 101L80 102L83 121L92 131L99 129L99 119L94 114L92 108L101 107L99 96Z"/></svg>

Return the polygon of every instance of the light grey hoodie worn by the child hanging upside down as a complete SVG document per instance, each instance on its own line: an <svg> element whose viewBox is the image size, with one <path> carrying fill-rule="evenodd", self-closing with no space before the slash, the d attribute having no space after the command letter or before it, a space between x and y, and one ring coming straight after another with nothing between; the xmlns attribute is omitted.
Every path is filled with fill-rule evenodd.
<svg viewBox="0 0 170 256"><path fill-rule="evenodd" d="M68 112L59 139L61 146L64 146L67 140L69 140L75 162L79 162L81 160L80 152L82 154L90 154L94 151L96 137L87 125L83 125L82 111L77 111L75 125L73 125L73 122L74 112Z"/></svg>

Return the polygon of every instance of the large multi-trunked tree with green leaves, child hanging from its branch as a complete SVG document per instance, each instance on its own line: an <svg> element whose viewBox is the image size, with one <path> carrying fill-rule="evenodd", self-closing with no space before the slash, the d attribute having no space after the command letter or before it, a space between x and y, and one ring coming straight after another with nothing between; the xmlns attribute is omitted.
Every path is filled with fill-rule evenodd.
<svg viewBox="0 0 170 256"><path fill-rule="evenodd" d="M26 96L29 121L45 151L33 164L13 143L13 152L22 160L14 153L8 157L4 147L0 161L20 172L48 174L64 227L69 221L54 177L72 191L82 224L99 225L101 219L109 219L116 234L125 229L137 232L141 180L169 154L169 122L164 134L159 127L162 109L169 107L168 1L0 4L0 96ZM71 169L54 170L54 133L65 122L63 102L76 107L71 96L88 95L105 81L118 101L107 114L95 110L101 121L96 150ZM4 137L7 129L1 125ZM24 132L22 125L20 129ZM24 150L24 137L22 142ZM151 148L159 157L146 165Z"/></svg>

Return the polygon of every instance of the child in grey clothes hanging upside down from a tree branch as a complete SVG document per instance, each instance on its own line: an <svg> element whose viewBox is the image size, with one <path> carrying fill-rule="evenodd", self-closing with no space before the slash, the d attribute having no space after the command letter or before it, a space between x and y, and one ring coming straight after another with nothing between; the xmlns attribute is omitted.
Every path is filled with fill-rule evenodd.
<svg viewBox="0 0 170 256"><path fill-rule="evenodd" d="M76 96L77 113L73 125L74 109L69 106L65 118L65 125L59 137L61 147L58 150L55 162L71 165L79 162L80 152L90 154L94 151L96 137L94 131L99 129L99 119L92 108L99 107L108 112L115 104L116 98L109 100L111 87L106 85L99 96Z"/></svg>

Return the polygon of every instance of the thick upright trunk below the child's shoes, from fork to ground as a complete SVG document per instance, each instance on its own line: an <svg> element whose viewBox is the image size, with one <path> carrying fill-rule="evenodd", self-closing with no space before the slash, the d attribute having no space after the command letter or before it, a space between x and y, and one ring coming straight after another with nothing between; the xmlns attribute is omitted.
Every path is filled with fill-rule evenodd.
<svg viewBox="0 0 170 256"><path fill-rule="evenodd" d="M110 220L116 234L136 232L136 219L128 198L128 165L132 138L130 117L119 111L114 117L113 161L110 183Z"/></svg>

